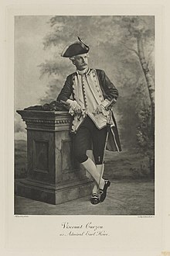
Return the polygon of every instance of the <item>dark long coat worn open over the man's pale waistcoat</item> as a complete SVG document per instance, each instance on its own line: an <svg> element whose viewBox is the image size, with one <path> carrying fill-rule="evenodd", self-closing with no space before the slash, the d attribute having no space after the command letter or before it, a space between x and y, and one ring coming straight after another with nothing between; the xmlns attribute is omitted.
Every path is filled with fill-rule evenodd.
<svg viewBox="0 0 170 256"><path fill-rule="evenodd" d="M105 72L100 69L96 69L97 71L97 78L100 84L101 91L103 93L104 99L108 99L111 101L112 99L116 99L118 97L117 88L115 88L114 84L110 81L110 79L107 77ZM66 82L59 93L57 97L57 101L63 100L66 102L67 99L70 99L70 97L73 97L74 100L74 92L73 92L73 81L75 79L76 72L73 74L70 74L66 78ZM114 125L109 130L108 140L107 140L107 150L110 151L121 151L121 143L118 135L117 130L117 123L114 118L114 112L112 111L112 118L114 120Z"/></svg>

